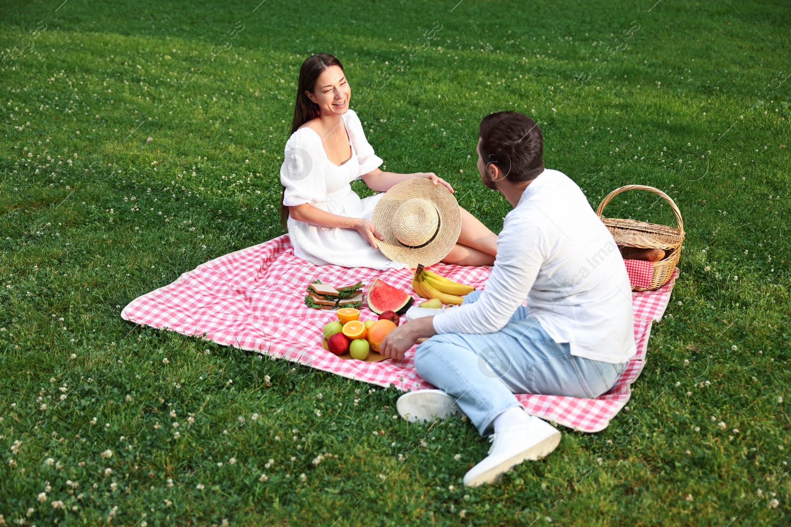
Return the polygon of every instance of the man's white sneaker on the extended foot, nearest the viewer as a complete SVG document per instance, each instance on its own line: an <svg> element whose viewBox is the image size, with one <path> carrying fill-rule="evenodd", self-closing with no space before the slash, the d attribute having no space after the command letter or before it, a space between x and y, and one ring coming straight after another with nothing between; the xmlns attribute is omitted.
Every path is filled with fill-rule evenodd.
<svg viewBox="0 0 791 527"><path fill-rule="evenodd" d="M560 431L534 416L527 424L495 433L490 441L489 455L464 475L468 487L492 483L522 461L547 456L558 446Z"/></svg>

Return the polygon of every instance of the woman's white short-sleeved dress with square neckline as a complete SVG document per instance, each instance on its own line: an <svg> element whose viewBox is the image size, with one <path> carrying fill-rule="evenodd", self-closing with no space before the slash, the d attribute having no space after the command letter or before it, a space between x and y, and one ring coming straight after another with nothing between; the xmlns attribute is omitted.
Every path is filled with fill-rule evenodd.
<svg viewBox="0 0 791 527"><path fill-rule="evenodd" d="M286 142L280 183L286 186L283 205L309 203L328 213L370 220L373 209L384 194L360 197L350 183L379 168L382 160L365 139L357 114L346 111L343 123L349 134L351 158L338 166L327 159L321 137L307 126L297 130ZM408 265L392 262L374 249L354 229L316 227L289 218L289 236L294 254L316 265L403 269Z"/></svg>

